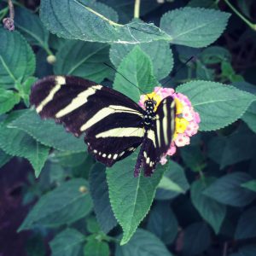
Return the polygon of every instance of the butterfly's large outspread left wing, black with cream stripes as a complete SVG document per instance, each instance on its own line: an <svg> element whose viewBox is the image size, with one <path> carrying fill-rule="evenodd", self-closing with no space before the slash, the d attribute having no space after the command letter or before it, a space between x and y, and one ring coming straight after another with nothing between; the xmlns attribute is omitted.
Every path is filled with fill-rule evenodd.
<svg viewBox="0 0 256 256"><path fill-rule="evenodd" d="M129 97L76 77L49 76L32 87L30 102L84 142L96 160L112 166L143 141L143 109Z"/></svg>

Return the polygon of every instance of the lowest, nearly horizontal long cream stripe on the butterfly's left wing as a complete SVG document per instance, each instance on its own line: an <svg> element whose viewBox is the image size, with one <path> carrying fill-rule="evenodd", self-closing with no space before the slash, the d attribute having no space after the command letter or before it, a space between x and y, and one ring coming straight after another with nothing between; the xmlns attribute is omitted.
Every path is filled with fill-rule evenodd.
<svg viewBox="0 0 256 256"><path fill-rule="evenodd" d="M138 127L119 127L103 131L96 135L99 137L143 137L144 129Z"/></svg>

